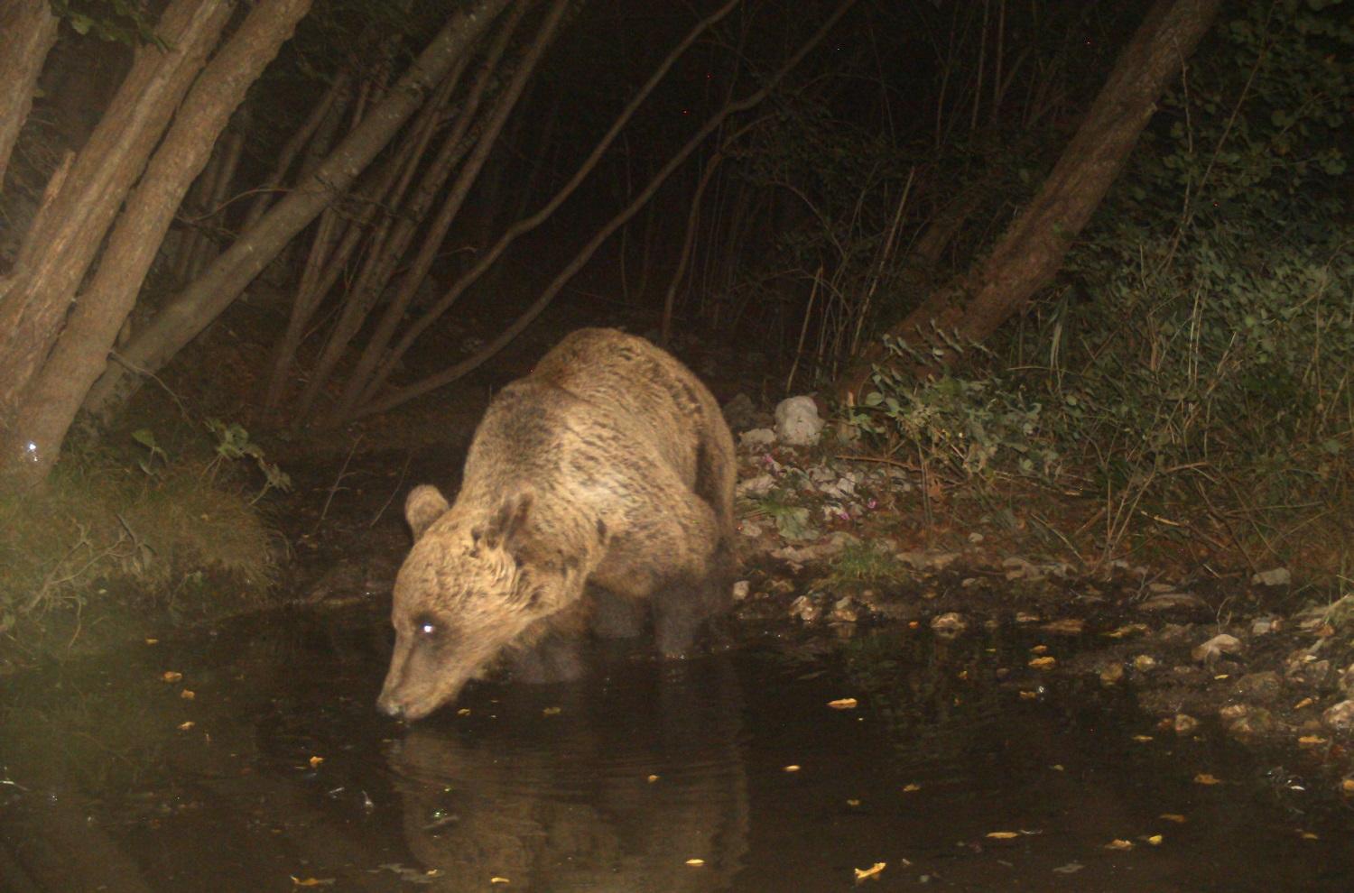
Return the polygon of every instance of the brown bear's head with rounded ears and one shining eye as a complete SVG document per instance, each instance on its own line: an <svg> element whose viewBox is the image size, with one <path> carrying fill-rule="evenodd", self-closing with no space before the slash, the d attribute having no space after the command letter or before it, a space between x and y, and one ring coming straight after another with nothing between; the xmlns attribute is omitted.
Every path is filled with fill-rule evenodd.
<svg viewBox="0 0 1354 893"><path fill-rule="evenodd" d="M532 494L447 505L432 486L405 502L414 547L395 578L395 651L376 706L417 720L455 700L529 626L575 603L585 572L533 536Z"/></svg>

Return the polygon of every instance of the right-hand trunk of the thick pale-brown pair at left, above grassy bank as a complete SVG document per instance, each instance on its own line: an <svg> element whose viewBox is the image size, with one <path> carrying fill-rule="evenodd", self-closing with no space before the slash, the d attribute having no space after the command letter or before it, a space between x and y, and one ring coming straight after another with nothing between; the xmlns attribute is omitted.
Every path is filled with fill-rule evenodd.
<svg viewBox="0 0 1354 893"><path fill-rule="evenodd" d="M16 445L3 456L23 456L22 483L43 480L89 386L107 365L137 294L184 193L211 154L245 91L291 37L311 0L259 0L198 77L175 116L141 185L127 200L103 253L103 262L76 302L65 330L20 402L15 432L35 451ZM229 4L219 4L222 24ZM0 468L3 471L3 468Z"/></svg>

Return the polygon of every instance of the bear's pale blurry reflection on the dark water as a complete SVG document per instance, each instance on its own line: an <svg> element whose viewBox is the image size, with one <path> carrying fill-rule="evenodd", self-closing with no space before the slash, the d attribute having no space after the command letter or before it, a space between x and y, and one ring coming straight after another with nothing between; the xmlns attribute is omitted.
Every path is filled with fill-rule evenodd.
<svg viewBox="0 0 1354 893"><path fill-rule="evenodd" d="M747 850L731 663L612 671L623 686L512 686L391 746L405 839L437 869L432 889L728 889Z"/></svg>

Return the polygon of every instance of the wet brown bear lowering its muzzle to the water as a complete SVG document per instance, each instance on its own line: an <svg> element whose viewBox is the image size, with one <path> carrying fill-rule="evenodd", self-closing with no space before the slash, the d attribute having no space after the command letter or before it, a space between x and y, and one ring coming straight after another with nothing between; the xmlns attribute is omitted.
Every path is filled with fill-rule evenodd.
<svg viewBox="0 0 1354 893"><path fill-rule="evenodd" d="M727 606L735 463L674 357L613 329L567 336L490 402L455 505L427 484L405 502L380 710L428 716L505 652L529 681L578 675L597 589L647 599L659 652L685 654Z"/></svg>

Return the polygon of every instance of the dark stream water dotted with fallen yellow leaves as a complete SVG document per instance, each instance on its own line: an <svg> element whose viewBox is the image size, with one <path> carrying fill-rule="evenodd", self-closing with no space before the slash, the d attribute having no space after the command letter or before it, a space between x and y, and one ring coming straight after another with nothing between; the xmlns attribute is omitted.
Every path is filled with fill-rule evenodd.
<svg viewBox="0 0 1354 893"><path fill-rule="evenodd" d="M617 648L406 728L372 708L380 617L252 618L0 683L0 889L846 890L879 862L861 889L1354 886L1349 812L1040 691L1029 644Z"/></svg>

